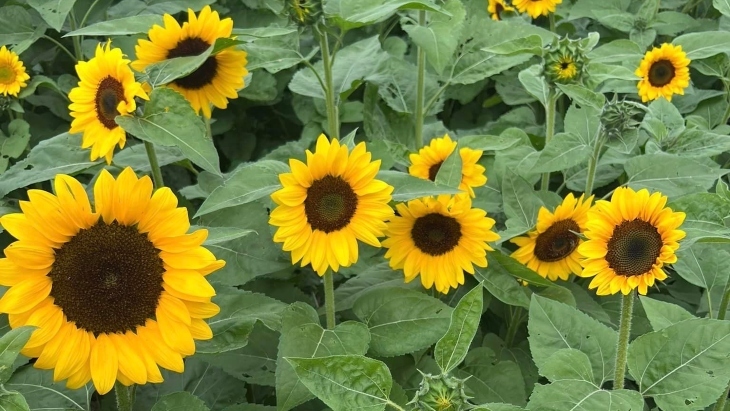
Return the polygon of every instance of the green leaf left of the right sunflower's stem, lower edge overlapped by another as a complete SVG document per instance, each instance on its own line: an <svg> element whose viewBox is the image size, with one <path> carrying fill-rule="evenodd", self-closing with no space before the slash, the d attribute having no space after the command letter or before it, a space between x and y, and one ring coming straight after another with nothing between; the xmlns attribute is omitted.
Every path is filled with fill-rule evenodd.
<svg viewBox="0 0 730 411"><path fill-rule="evenodd" d="M538 367L555 352L574 348L588 356L597 386L613 378L618 335L588 315L533 294L527 329L530 351Z"/></svg>

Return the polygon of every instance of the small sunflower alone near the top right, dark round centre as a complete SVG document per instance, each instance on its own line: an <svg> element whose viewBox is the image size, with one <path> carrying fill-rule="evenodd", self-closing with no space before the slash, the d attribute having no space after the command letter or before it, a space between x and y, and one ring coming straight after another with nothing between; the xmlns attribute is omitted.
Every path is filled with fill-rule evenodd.
<svg viewBox="0 0 730 411"><path fill-rule="evenodd" d="M672 100L672 94L684 94L689 86L689 63L682 46L669 43L654 47L644 55L636 75L641 77L636 87L641 101L656 100L663 96Z"/></svg>

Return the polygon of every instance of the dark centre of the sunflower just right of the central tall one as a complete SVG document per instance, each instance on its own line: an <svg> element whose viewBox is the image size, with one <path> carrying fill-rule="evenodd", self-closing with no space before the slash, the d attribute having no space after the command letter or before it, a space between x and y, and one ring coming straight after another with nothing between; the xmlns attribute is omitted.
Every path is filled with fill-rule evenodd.
<svg viewBox="0 0 730 411"><path fill-rule="evenodd" d="M413 223L411 238L416 247L426 254L446 254L459 244L461 224L453 217L438 213L426 214Z"/></svg>

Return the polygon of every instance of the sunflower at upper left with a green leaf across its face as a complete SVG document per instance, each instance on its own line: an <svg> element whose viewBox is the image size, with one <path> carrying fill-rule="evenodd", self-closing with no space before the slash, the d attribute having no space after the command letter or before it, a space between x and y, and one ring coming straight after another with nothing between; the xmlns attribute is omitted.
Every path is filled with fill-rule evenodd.
<svg viewBox="0 0 730 411"><path fill-rule="evenodd" d="M198 16L188 9L188 21L182 27L169 14L165 14L164 27L154 25L149 31L150 40L139 40L134 47L137 60L132 68L144 71L145 67L174 57L197 56L219 38L231 37L233 20L222 19L217 11L205 6ZM168 84L190 102L196 112L203 111L210 118L210 105L226 108L228 99L238 97L243 88L246 70L246 52L229 47L208 57L197 70Z"/></svg>

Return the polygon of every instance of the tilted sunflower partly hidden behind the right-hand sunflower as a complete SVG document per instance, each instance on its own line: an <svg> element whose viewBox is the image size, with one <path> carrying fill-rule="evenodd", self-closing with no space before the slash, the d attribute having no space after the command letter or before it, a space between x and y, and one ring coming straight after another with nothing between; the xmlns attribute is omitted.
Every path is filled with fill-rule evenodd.
<svg viewBox="0 0 730 411"><path fill-rule="evenodd" d="M576 199L570 193L554 213L540 207L535 230L510 240L520 247L512 257L551 281L580 274L583 268L577 248L582 240L575 233L585 231L592 201L593 196Z"/></svg>

